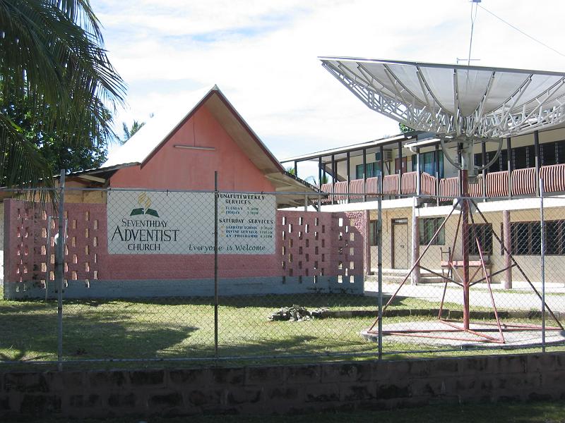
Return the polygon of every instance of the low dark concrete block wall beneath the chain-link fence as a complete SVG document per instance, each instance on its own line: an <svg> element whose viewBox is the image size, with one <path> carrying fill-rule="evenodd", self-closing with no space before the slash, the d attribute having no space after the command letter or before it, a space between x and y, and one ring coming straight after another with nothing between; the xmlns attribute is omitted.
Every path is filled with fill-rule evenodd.
<svg viewBox="0 0 565 423"><path fill-rule="evenodd" d="M0 372L0 417L273 415L565 398L565 354Z"/></svg>

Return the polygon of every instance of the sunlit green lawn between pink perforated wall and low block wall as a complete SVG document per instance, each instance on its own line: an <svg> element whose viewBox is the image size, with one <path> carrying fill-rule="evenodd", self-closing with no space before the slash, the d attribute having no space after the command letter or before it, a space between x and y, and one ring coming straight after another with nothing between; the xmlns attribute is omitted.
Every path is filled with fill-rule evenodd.
<svg viewBox="0 0 565 423"><path fill-rule="evenodd" d="M319 357L340 353L376 356L376 343L359 333L374 317L330 318L309 321L269 321L280 307L293 304L308 309L371 310L374 297L347 294L261 295L220 298L218 354L220 357ZM437 302L396 298L391 310L426 310ZM458 305L446 305L460 309ZM384 324L432 320L434 315L386 317ZM537 323L529 321L530 323ZM64 302L64 357L83 359L209 358L214 356L212 298L159 300L67 300ZM424 343L422 342L422 345ZM410 353L439 350L414 342L389 341L383 350ZM0 360L53 361L57 359L57 302L0 300ZM311 359L310 359L311 360Z"/></svg>

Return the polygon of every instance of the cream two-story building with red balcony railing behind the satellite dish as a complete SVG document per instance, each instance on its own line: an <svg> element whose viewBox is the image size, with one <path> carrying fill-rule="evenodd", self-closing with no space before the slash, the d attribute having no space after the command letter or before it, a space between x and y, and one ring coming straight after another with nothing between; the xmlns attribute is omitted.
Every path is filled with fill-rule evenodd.
<svg viewBox="0 0 565 423"><path fill-rule="evenodd" d="M504 249L496 240L507 238L513 257L528 277L539 281L540 270L540 184L543 180L545 223L547 228L547 258L551 271L547 281L562 281L565 273L557 265L565 255L565 129L557 128L529 135L509 137L496 157L496 142L475 146L475 164L491 166L480 171L469 184L469 193L487 218L482 221L475 213L471 233L479 235L489 266L504 264ZM496 159L495 159L496 157ZM383 274L398 278L410 269L420 250L429 243L449 212L453 197L460 195L458 171L444 157L441 142L430 133L408 132L379 140L302 154L282 161L295 168L302 178L301 168L310 161L317 164L319 187L328 192L323 211L366 209L371 216L371 269L376 271L377 197L379 176L382 175L382 248ZM420 172L417 169L420 168ZM422 200L415 203L414 198ZM504 226L504 214L509 216ZM417 222L416 224L414 222ZM451 218L441 229L423 259L423 266L441 273L441 261L449 250L460 255L460 233L457 218ZM417 231L413 235L413 233ZM474 232L476 231L476 232ZM493 236L492 234L496 234ZM509 238L509 240L508 240ZM471 237L471 242L475 243ZM471 255L478 255L470 245ZM494 281L504 281L505 274L494 275ZM514 280L521 275L514 271ZM437 281L434 274L422 271L420 281Z"/></svg>

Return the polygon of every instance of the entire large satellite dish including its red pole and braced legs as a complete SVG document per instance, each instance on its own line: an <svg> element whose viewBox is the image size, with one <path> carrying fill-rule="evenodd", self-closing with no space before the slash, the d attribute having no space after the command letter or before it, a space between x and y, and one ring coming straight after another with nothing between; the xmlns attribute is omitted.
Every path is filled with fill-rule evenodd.
<svg viewBox="0 0 565 423"><path fill-rule="evenodd" d="M478 0L474 0L477 3ZM475 200L468 195L468 177L474 176L475 168L473 164L473 145L475 143L495 142L498 145L498 154L502 147L504 137L511 137L530 133L533 130L548 128L553 125L563 123L565 120L565 73L545 72L545 71L525 71L521 69L504 68L485 68L478 66L442 65L436 63L416 63L408 61L391 60L371 60L353 59L338 57L321 58L322 65L335 78L355 94L370 109L393 118L395 121L425 132L436 133L441 140L441 149L444 157L454 166L460 169L460 197L453 202L451 212L445 217L441 227L458 209L459 220L457 223L456 234L460 233L461 257L460 261L454 259L454 252L458 242L458 236L453 238L453 248L450 250L446 269L453 270L453 274L458 274L457 266L461 273L460 281L450 280L463 288L463 325L454 325L452 321L441 319L450 329L448 331L464 331L474 333L483 338L483 341L505 343L503 328L496 312L494 296L491 289L492 273L487 271L482 247L477 235L471 238L469 221L475 223L473 216L475 211L487 223ZM451 148L454 147L454 148ZM457 155L453 152L456 151ZM494 157L494 160L496 160ZM489 166L492 163L487 164ZM486 166L485 166L486 167ZM415 226L412 231L417 233L417 219L413 219ZM459 229L461 231L459 232ZM420 266L420 260L426 254L428 248L439 233L436 231L432 240L425 247L424 252L418 258L415 255L412 262L412 269L408 271L396 292L389 298L388 305L396 298L400 288L406 283L412 272L425 269ZM492 232L501 247L502 241ZM499 331L499 338L494 338L488 334L480 334L470 329L470 304L469 295L472 285L470 274L470 241L475 241L480 255L480 266L482 267L484 278L492 298L492 307L496 317L496 326ZM419 244L412 246L418 251ZM506 254L513 261L501 271L506 271L518 263L512 258L511 252L506 250ZM442 259L443 260L443 259ZM458 264L460 262L460 264ZM444 262L441 264L444 269ZM379 268L379 272L382 269ZM521 271L521 270L520 270ZM500 272L496 272L500 273ZM528 277L521 271L523 277ZM477 271L475 271L475 275ZM448 279L445 278L446 287ZM482 281L481 280L481 281ZM528 280L529 281L529 280ZM530 287L538 295L533 284ZM445 291L444 291L445 292ZM545 308L553 316L553 312L544 302ZM443 302L441 307L443 307ZM441 308L440 308L441 310ZM377 317L374 324L367 330L367 333L376 333L375 326L381 321L382 314ZM555 319L557 326L555 330L563 330L563 325ZM518 325L519 326L519 325ZM516 326L516 327L518 327ZM520 326L523 329L525 326ZM525 330L531 330L530 329ZM539 329L538 329L539 330ZM419 337L439 337L446 338L445 331L439 335L432 335L432 331L417 333L417 330L409 329L406 335ZM381 331L381 333L384 333ZM398 331L394 331L398 335ZM460 338L458 338L460 339Z"/></svg>

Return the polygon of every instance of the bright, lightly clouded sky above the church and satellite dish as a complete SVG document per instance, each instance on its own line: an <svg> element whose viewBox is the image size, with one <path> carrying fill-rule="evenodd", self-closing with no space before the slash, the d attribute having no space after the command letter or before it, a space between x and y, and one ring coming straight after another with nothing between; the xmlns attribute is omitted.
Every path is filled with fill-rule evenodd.
<svg viewBox="0 0 565 423"><path fill-rule="evenodd" d="M398 123L364 106L319 56L433 63L468 57L469 0L91 0L128 85L117 131L186 109L218 85L275 157L378 139ZM565 71L562 0L482 0L475 66ZM486 9L486 10L485 10ZM514 27L557 49L552 51ZM315 166L307 168L317 173ZM301 177L308 175L300 174Z"/></svg>

